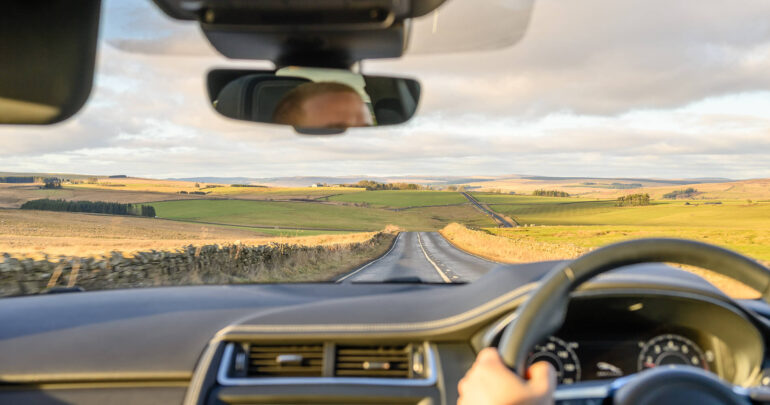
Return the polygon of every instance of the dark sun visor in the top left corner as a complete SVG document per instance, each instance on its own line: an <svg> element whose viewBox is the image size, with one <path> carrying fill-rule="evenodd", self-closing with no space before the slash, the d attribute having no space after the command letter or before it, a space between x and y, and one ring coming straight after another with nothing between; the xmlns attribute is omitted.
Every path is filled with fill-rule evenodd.
<svg viewBox="0 0 770 405"><path fill-rule="evenodd" d="M6 0L0 13L0 124L65 120L91 93L100 0Z"/></svg>

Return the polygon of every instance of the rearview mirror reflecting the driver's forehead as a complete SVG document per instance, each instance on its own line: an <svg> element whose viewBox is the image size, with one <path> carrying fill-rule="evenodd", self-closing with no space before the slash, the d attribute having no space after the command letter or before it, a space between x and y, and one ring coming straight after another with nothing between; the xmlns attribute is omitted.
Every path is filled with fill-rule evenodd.
<svg viewBox="0 0 770 405"><path fill-rule="evenodd" d="M412 118L420 100L416 80L305 67L212 70L208 92L214 109L226 117L311 134L401 124Z"/></svg>

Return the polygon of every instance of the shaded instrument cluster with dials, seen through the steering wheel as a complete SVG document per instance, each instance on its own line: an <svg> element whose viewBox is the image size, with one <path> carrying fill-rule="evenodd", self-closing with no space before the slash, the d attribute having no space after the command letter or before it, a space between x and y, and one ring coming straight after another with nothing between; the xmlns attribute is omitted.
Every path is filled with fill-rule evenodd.
<svg viewBox="0 0 770 405"><path fill-rule="evenodd" d="M564 325L528 364L547 361L560 384L687 365L742 383L763 354L762 337L729 307L683 297L593 296L572 301Z"/></svg>

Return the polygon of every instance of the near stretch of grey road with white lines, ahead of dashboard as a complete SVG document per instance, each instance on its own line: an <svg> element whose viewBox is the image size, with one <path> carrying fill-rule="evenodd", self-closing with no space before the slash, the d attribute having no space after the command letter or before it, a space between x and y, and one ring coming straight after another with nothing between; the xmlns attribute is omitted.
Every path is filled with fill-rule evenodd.
<svg viewBox="0 0 770 405"><path fill-rule="evenodd" d="M452 246L438 232L402 232L383 256L337 282L383 282L418 278L425 283L473 281L497 266Z"/></svg>

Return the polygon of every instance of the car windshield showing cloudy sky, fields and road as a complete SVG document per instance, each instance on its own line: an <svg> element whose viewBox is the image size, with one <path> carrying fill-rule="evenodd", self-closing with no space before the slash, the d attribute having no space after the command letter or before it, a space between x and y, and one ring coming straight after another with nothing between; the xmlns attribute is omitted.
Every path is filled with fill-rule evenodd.
<svg viewBox="0 0 770 405"><path fill-rule="evenodd" d="M770 262L770 3L447 4L403 58L358 66L420 81L411 121L306 136L206 97L209 70L271 63L105 1L83 111L0 128L0 295L470 283L657 236Z"/></svg>

